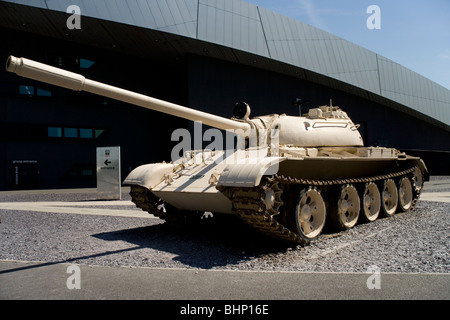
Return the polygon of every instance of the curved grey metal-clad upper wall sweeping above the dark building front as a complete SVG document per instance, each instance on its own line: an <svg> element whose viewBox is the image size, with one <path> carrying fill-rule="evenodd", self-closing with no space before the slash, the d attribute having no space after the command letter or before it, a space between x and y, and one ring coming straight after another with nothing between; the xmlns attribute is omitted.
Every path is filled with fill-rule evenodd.
<svg viewBox="0 0 450 320"><path fill-rule="evenodd" d="M450 90L354 43L241 0L8 0L198 39L367 90L450 126Z"/></svg>

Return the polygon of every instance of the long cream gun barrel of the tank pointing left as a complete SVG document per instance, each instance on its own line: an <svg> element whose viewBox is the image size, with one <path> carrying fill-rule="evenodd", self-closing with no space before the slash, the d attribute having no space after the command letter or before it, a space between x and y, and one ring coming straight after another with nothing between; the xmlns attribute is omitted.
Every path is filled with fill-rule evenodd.
<svg viewBox="0 0 450 320"><path fill-rule="evenodd" d="M9 56L6 62L6 70L22 77L42 81L66 89L86 91L184 119L201 121L202 123L215 128L231 131L238 130L236 132L238 134L250 130L250 125L245 122L234 121L94 80L89 80L80 74L55 68L26 58Z"/></svg>

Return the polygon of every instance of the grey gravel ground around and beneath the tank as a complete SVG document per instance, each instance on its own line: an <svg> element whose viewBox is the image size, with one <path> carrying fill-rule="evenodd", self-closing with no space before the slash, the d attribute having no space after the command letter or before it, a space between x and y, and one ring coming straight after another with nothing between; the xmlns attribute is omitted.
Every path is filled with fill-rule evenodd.
<svg viewBox="0 0 450 320"><path fill-rule="evenodd" d="M0 193L0 202L52 200L95 200L95 195ZM376 265L381 272L450 272L449 203L419 201L415 212L325 233L305 247L271 241L231 219L177 230L158 219L1 209L0 215L4 260L320 272L366 272Z"/></svg>

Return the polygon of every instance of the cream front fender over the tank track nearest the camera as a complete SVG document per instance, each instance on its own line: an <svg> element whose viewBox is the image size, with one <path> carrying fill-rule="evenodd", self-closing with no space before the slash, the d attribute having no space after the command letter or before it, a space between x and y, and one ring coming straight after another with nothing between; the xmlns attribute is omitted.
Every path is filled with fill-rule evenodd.
<svg viewBox="0 0 450 320"><path fill-rule="evenodd" d="M261 182L262 176L276 174L279 163L284 160L286 158L265 157L246 163L228 164L220 175L217 187L255 187Z"/></svg>

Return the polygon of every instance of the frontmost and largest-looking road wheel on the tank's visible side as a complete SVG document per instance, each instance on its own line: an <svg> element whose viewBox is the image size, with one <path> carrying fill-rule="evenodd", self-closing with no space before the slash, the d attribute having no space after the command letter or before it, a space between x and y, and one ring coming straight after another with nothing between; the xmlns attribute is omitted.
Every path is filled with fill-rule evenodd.
<svg viewBox="0 0 450 320"><path fill-rule="evenodd" d="M287 214L289 226L304 240L313 240L325 226L325 201L320 191L313 187L304 188L293 200Z"/></svg>

